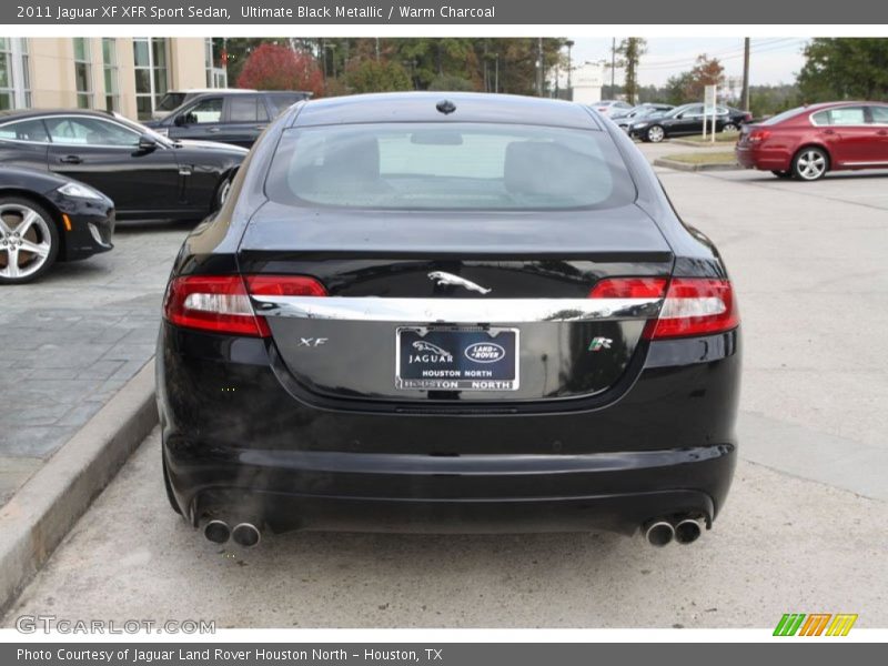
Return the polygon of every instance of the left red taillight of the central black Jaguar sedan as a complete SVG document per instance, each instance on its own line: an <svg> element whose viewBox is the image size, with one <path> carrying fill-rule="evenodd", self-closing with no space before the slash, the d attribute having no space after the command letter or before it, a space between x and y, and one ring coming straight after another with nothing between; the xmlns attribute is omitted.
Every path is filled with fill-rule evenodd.
<svg viewBox="0 0 888 666"><path fill-rule="evenodd" d="M326 290L303 275L184 275L173 279L163 302L164 319L176 326L213 333L269 337L250 294L324 296Z"/></svg>

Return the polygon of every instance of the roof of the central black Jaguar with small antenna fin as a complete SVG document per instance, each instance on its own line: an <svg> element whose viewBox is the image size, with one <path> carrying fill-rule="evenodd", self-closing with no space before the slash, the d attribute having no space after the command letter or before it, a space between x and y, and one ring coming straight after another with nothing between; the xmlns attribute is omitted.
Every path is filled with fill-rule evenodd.
<svg viewBox="0 0 888 666"><path fill-rule="evenodd" d="M455 110L437 110L448 101ZM513 94L482 92L384 92L324 98L292 111L291 127L377 122L498 122L602 129L583 104Z"/></svg>

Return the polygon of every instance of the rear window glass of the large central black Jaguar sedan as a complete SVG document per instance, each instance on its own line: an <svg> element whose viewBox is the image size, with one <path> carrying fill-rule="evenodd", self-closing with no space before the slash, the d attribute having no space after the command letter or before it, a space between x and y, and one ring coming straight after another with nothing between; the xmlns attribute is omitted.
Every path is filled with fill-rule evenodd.
<svg viewBox="0 0 888 666"><path fill-rule="evenodd" d="M636 195L606 132L493 123L291 129L265 191L295 205L433 210L614 208Z"/></svg>

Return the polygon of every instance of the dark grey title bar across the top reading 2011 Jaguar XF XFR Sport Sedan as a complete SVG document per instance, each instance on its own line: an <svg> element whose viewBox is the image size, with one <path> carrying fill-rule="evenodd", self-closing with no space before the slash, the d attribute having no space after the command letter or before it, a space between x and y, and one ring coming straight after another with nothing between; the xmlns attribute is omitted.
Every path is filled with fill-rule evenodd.
<svg viewBox="0 0 888 666"><path fill-rule="evenodd" d="M413 2L292 2L287 0L157 0L150 3L65 0L4 2L6 24L884 24L888 3L842 0L415 0Z"/></svg>

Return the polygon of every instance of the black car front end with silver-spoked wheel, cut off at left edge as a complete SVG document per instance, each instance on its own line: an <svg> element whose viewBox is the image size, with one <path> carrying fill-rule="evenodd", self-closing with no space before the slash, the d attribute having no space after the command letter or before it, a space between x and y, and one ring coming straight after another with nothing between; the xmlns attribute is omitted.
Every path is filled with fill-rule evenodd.
<svg viewBox="0 0 888 666"><path fill-rule="evenodd" d="M0 165L0 284L113 248L114 204L71 179Z"/></svg>

